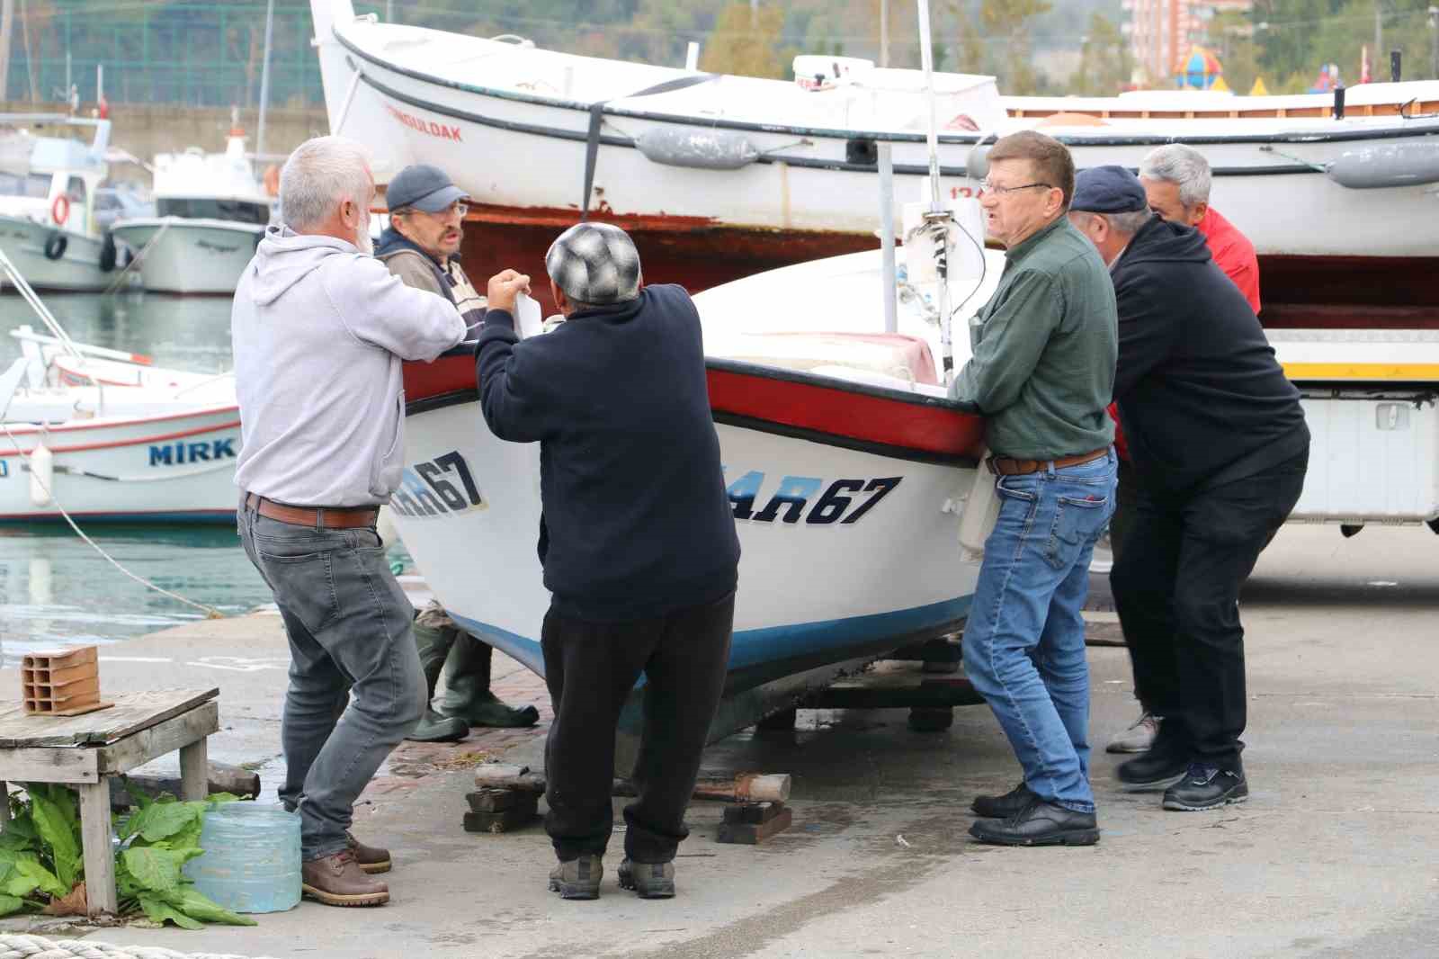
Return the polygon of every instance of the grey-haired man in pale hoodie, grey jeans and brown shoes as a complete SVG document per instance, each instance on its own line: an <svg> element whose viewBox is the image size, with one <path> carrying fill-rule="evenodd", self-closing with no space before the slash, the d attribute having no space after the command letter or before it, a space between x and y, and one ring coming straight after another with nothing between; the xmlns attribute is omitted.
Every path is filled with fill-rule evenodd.
<svg viewBox="0 0 1439 959"><path fill-rule="evenodd" d="M400 364L459 344L465 321L371 256L374 179L358 144L301 144L279 193L282 225L260 240L230 314L239 530L289 636L279 795L301 816L302 888L378 906L390 891L370 874L390 854L350 835L354 801L423 716L426 687L413 609L374 521L403 467Z"/></svg>

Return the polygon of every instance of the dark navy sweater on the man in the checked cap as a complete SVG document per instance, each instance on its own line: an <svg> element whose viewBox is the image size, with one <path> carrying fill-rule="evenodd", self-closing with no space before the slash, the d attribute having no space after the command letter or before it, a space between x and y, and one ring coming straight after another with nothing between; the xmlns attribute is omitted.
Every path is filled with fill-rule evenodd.
<svg viewBox="0 0 1439 959"><path fill-rule="evenodd" d="M491 310L475 350L489 429L540 441L540 562L555 612L649 619L734 592L740 539L682 287L646 287L522 343Z"/></svg>

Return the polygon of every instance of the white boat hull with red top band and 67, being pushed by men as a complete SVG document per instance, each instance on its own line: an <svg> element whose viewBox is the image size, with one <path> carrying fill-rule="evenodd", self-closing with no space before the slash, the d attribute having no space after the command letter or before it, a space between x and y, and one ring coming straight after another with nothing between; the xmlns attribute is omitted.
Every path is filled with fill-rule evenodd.
<svg viewBox="0 0 1439 959"><path fill-rule="evenodd" d="M473 383L468 354L407 364L407 468L390 505L449 613L543 675L540 449L496 439ZM753 693L715 736L968 611L979 563L958 547L954 504L974 481L979 418L856 389L711 361L741 544L725 695Z"/></svg>

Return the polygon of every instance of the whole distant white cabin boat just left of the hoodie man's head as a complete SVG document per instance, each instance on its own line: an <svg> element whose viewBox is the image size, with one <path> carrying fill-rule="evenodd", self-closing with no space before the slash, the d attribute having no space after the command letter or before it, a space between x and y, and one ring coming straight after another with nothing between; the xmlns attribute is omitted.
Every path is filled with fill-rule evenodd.
<svg viewBox="0 0 1439 959"><path fill-rule="evenodd" d="M232 128L224 153L190 147L155 156L155 216L122 219L114 233L137 251L145 289L233 294L271 219L271 197Z"/></svg>

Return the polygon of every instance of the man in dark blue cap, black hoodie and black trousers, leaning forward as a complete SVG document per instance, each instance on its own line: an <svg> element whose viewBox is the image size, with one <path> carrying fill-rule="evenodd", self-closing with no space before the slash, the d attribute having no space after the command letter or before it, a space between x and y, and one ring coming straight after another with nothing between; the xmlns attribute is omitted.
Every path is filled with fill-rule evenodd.
<svg viewBox="0 0 1439 959"><path fill-rule="evenodd" d="M1299 392L1204 236L1153 216L1132 173L1079 173L1069 220L1108 264L1118 301L1114 399L1138 482L1109 583L1135 693L1164 717L1117 775L1177 779L1166 809L1243 802L1239 587L1304 488Z"/></svg>

